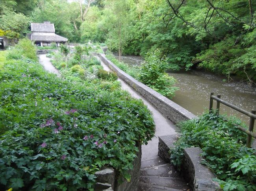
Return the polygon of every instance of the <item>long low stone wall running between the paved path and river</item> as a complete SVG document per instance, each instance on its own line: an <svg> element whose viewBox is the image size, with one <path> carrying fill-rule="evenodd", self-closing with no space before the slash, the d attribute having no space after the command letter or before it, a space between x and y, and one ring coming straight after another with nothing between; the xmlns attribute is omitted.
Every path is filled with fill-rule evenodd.
<svg viewBox="0 0 256 191"><path fill-rule="evenodd" d="M126 74L124 71L119 69L114 63L109 61L105 54L96 54L111 70L117 73L118 77L124 80L130 85L135 91L141 94L148 102L150 102L156 109L158 109L165 117L170 121L177 123L187 119L193 119L196 116L186 109L182 108L178 104L169 100L160 93L154 91L147 85L135 80L132 76Z"/></svg>

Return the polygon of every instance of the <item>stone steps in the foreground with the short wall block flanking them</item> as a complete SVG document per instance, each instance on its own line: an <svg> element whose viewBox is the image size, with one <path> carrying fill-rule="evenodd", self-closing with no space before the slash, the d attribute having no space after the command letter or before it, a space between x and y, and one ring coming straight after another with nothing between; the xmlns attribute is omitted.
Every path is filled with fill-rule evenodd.
<svg viewBox="0 0 256 191"><path fill-rule="evenodd" d="M167 156L176 135L159 137L158 157L141 161L139 191L191 191ZM161 158L159 157L161 156Z"/></svg>

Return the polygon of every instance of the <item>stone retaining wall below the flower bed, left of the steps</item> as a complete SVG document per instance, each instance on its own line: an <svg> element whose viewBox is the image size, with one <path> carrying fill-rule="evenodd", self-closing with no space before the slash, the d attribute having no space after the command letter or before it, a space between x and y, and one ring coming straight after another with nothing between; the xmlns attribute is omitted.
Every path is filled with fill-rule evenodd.
<svg viewBox="0 0 256 191"><path fill-rule="evenodd" d="M128 182L122 176L118 176L113 168L105 167L101 171L95 172L96 184L95 191L137 191L139 184L139 172L141 169L141 145L137 144L139 151L136 153L137 158L133 161L133 169L128 173L131 180Z"/></svg>

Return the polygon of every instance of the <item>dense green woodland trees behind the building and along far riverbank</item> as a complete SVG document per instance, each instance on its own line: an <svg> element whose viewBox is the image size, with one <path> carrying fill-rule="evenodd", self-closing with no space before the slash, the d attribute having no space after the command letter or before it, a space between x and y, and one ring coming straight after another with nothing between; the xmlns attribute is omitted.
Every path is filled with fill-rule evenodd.
<svg viewBox="0 0 256 191"><path fill-rule="evenodd" d="M18 39L29 22L51 21L71 42L100 42L121 54L157 48L169 69L203 68L256 81L252 0L2 0L0 35Z"/></svg>

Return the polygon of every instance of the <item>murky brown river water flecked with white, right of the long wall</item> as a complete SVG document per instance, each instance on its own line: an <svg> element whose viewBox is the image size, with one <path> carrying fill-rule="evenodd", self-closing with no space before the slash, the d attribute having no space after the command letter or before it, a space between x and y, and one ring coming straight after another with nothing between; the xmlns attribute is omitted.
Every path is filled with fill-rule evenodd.
<svg viewBox="0 0 256 191"><path fill-rule="evenodd" d="M118 56L116 58L118 59ZM141 56L122 56L121 61L129 65L139 65L143 62L143 58ZM172 100L195 115L200 115L209 108L211 92L221 95L223 100L239 108L247 111L256 109L256 87L239 82L223 82L224 78L222 77L197 70L168 72L168 74L176 78L175 86L180 88ZM213 101L213 106L216 107L215 101ZM249 117L223 104L220 106L220 113L235 115L249 124ZM256 124L254 124L254 128L255 126Z"/></svg>

